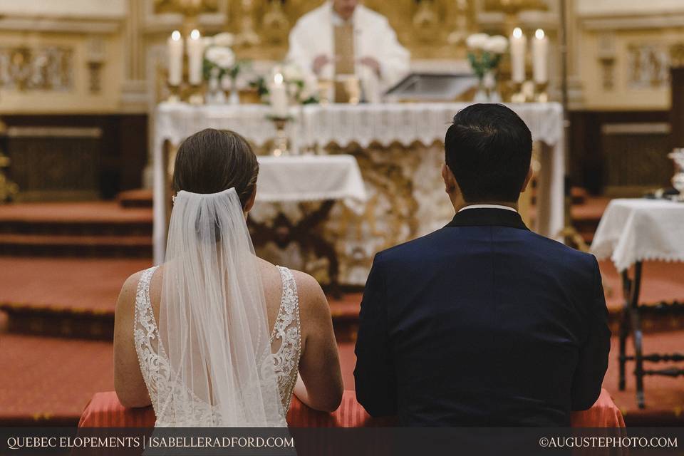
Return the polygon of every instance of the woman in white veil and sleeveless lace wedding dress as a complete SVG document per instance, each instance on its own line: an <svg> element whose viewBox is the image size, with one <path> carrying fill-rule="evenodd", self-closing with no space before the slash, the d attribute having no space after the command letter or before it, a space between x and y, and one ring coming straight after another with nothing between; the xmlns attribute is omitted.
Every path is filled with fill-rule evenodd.
<svg viewBox="0 0 684 456"><path fill-rule="evenodd" d="M342 377L326 296L254 254L259 163L247 141L202 130L180 146L164 264L123 284L114 385L157 426L285 426L291 395L336 410ZM298 375L299 374L299 375Z"/></svg>

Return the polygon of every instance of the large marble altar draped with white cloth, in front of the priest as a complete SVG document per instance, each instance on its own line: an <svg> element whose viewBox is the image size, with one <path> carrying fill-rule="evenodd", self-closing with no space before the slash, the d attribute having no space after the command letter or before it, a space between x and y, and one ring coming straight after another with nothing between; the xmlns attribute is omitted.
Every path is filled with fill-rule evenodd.
<svg viewBox="0 0 684 456"><path fill-rule="evenodd" d="M439 229L453 217L440 177L443 140L452 117L465 106L467 103L383 103L290 108L286 133L292 153L348 154L356 157L361 168L367 194L363 209L334 204L321 224L323 237L335 249L341 284L363 285L376 252ZM509 107L527 123L539 145L534 217L523 215L532 221L534 231L556 238L564 223L561 105L521 103ZM175 148L203 128L225 128L247 138L257 154L267 154L276 137L274 123L267 118L270 112L266 105L157 106L152 157L156 264L163 261L165 252ZM269 224L276 211L272 202L259 202L258 192L250 219ZM296 222L305 217L306 209L283 202L277 212ZM266 251L260 252L264 246L255 248L267 256ZM304 269L326 283L324 261L317 261L311 252L294 252L296 246L291 249L289 254L297 260L286 266Z"/></svg>

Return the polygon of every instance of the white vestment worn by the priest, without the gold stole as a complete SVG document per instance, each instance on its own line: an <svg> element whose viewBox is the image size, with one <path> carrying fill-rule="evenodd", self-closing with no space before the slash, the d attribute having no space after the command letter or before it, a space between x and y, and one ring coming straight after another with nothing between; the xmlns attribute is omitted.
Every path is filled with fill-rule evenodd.
<svg viewBox="0 0 684 456"><path fill-rule="evenodd" d="M385 90L408 73L410 53L401 46L385 16L358 5L350 21L354 33L356 76L361 80L366 100L378 102ZM313 72L314 59L328 56L330 63L321 69L318 78L332 80L335 76L334 25L340 22L331 1L301 16L290 32L287 59L304 71ZM379 78L373 69L359 63L363 57L372 57L380 63Z"/></svg>

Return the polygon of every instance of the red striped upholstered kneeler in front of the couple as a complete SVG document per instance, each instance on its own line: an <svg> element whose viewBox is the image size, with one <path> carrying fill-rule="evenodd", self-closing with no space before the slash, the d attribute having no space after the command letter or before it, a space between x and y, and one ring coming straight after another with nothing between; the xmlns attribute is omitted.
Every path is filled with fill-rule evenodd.
<svg viewBox="0 0 684 456"><path fill-rule="evenodd" d="M392 421L386 418L371 418L356 402L356 393L345 391L342 404L333 413L311 410L296 397L287 414L291 427L371 427L388 426ZM601 395L592 408L572 413L573 427L625 427L622 413L613 403L608 391ZM152 427L155 413L151 407L124 408L116 393L96 393L83 410L78 427Z"/></svg>

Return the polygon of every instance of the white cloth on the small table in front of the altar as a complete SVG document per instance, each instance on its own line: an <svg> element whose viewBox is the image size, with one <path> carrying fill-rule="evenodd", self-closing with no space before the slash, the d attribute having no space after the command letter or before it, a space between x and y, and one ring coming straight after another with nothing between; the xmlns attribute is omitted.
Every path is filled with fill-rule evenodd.
<svg viewBox="0 0 684 456"><path fill-rule="evenodd" d="M366 189L351 155L259 157L259 202L304 202L341 199L363 212Z"/></svg>

